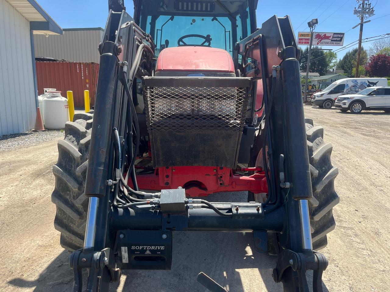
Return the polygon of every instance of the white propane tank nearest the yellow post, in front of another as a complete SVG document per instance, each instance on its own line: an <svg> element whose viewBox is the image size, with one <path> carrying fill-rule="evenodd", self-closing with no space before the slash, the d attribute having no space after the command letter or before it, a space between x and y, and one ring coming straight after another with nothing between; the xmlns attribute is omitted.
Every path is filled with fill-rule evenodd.
<svg viewBox="0 0 390 292"><path fill-rule="evenodd" d="M45 128L58 130L65 128L69 121L68 100L61 96L61 91L48 91L43 99L43 112Z"/></svg>

